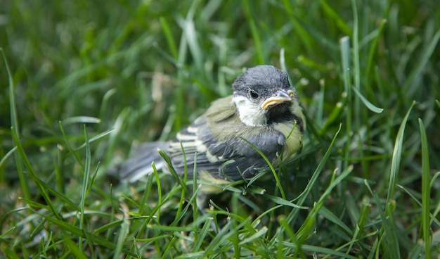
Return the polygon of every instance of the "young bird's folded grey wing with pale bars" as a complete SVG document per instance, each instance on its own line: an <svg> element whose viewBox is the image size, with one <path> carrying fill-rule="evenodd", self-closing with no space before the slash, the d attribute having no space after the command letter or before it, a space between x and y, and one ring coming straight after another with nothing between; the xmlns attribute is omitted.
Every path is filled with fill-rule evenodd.
<svg viewBox="0 0 440 259"><path fill-rule="evenodd" d="M167 153L177 172L183 172L186 163L188 175L196 164L198 172L208 172L215 178L249 179L257 173L257 168L267 167L255 148L269 161L276 158L285 136L269 126L244 125L228 105L228 99L214 102L204 115L171 141Z"/></svg>

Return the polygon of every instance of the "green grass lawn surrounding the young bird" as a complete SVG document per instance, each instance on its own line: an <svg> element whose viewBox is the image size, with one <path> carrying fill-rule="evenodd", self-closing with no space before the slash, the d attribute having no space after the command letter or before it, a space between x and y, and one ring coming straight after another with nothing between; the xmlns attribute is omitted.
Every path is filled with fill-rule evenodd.
<svg viewBox="0 0 440 259"><path fill-rule="evenodd" d="M439 40L434 0L6 1L0 257L436 258ZM262 63L303 101L299 156L205 214L191 179L108 173Z"/></svg>

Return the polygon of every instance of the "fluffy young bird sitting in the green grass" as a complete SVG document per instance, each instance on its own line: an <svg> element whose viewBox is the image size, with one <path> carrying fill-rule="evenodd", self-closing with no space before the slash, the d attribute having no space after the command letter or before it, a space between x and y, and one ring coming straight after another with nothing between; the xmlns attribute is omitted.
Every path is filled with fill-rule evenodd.
<svg viewBox="0 0 440 259"><path fill-rule="evenodd" d="M124 181L136 182L157 170L186 173L205 182L249 180L302 149L306 120L287 73L273 65L248 68L232 84L233 94L213 101L205 113L169 141L141 144L120 169ZM167 153L171 165L157 152ZM261 152L261 153L260 153ZM221 190L205 188L205 193Z"/></svg>

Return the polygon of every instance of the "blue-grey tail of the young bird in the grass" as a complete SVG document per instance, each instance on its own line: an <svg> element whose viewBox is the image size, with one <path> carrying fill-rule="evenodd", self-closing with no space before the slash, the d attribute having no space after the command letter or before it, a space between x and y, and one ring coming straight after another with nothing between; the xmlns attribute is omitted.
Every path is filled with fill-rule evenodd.
<svg viewBox="0 0 440 259"><path fill-rule="evenodd" d="M157 149L167 149L168 142L150 142L141 144L133 152L131 158L124 162L119 170L119 177L123 181L135 182L144 175L153 172L151 163L155 162L157 170L164 167L165 162L157 153Z"/></svg>

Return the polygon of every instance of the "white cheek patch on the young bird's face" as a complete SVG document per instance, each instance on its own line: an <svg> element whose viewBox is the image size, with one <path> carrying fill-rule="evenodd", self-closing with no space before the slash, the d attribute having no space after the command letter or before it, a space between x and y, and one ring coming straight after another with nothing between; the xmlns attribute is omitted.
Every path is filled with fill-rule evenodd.
<svg viewBox="0 0 440 259"><path fill-rule="evenodd" d="M262 110L258 103L252 103L245 96L233 97L238 117L247 126L263 126L267 123L266 110Z"/></svg>

